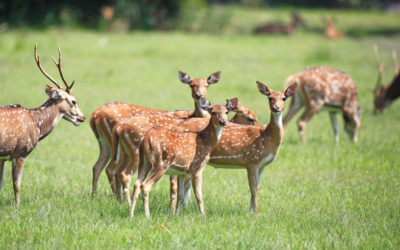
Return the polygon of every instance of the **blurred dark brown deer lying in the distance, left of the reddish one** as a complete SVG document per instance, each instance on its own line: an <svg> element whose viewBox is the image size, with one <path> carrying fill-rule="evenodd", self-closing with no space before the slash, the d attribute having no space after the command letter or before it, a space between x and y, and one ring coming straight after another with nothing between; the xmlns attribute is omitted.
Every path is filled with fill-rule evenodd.
<svg viewBox="0 0 400 250"><path fill-rule="evenodd" d="M257 26L253 33L255 34L285 34L291 35L297 27L305 26L305 21L300 17L299 14L292 12L292 23L282 24L282 23L266 23Z"/></svg>

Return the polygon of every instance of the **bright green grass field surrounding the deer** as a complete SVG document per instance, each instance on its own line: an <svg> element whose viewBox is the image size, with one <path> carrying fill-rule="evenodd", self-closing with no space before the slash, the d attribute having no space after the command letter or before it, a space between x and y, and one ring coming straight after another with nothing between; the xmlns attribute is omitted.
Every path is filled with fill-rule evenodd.
<svg viewBox="0 0 400 250"><path fill-rule="evenodd" d="M261 20L263 12L254 12L247 22ZM319 17L326 13L337 16L339 26L352 36L328 41L319 34ZM253 13L235 10L233 15ZM190 90L178 81L178 70L193 77L221 70L221 81L209 88L211 103L238 97L265 123L267 100L255 81L282 89L287 76L310 65L329 65L351 75L363 114L357 144L348 140L341 119L340 142L334 143L327 113L308 123L307 144L300 143L292 121L280 154L264 171L258 215L248 214L244 170L206 167L206 217L198 214L193 197L186 210L170 215L164 177L150 195L150 221L141 202L129 221L128 206L114 199L105 174L98 195L91 197L97 142L88 122L75 127L61 121L26 160L19 208L7 163L0 192L0 248L399 248L400 101L373 116L370 89L377 78L373 44L379 45L386 66L384 82L392 77L390 52L400 52L400 16L323 10L303 15L311 31L291 37L68 29L2 33L0 105L36 107L46 100L47 80L33 60L38 43L42 64L54 76L51 56L57 55L60 44L65 77L76 80L74 93L87 118L95 108L116 100L192 109Z"/></svg>

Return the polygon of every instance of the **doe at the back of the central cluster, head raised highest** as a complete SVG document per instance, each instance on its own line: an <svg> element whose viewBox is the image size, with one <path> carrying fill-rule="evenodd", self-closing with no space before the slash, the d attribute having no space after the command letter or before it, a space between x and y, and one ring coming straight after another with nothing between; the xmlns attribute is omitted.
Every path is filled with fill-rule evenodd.
<svg viewBox="0 0 400 250"><path fill-rule="evenodd" d="M97 182L101 171L111 158L112 130L117 122L138 113L162 113L164 115L180 118L207 117L208 113L204 112L199 106L199 99L207 95L208 86L217 83L220 77L221 72L218 71L211 74L207 79L192 79L188 74L179 71L180 81L184 84L188 84L192 90L192 97L195 105L194 111L162 111L120 102L109 103L94 110L90 116L90 127L99 143L100 155L93 167L92 195L96 195ZM113 192L116 193L115 177L111 169L107 169L106 173L111 188Z"/></svg>

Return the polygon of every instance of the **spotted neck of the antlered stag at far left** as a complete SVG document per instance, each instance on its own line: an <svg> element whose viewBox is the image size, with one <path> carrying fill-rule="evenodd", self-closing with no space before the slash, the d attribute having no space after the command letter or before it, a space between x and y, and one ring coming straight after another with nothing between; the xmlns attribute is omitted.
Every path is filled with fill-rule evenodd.
<svg viewBox="0 0 400 250"><path fill-rule="evenodd" d="M53 99L47 100L39 108L29 109L29 113L39 129L39 140L50 134L63 116Z"/></svg>

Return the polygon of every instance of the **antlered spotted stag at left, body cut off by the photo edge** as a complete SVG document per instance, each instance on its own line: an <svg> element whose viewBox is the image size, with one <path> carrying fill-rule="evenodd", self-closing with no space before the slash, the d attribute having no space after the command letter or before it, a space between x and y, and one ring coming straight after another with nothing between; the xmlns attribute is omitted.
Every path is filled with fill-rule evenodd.
<svg viewBox="0 0 400 250"><path fill-rule="evenodd" d="M85 116L78 108L72 93L74 81L68 84L64 78L61 69L61 49L58 48L58 61L54 58L53 60L66 87L65 89L41 66L37 54L37 45L35 45L34 57L42 74L56 86L46 85L47 101L38 108L31 109L19 104L0 107L0 190L3 187L4 164L6 161L11 161L13 189L17 206L21 203L20 186L25 158L39 141L53 131L61 118L72 122L75 126L79 126L85 120Z"/></svg>

